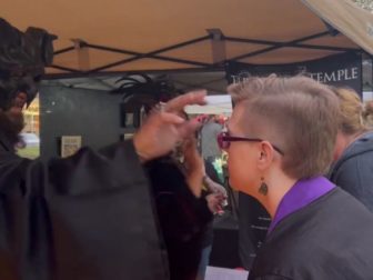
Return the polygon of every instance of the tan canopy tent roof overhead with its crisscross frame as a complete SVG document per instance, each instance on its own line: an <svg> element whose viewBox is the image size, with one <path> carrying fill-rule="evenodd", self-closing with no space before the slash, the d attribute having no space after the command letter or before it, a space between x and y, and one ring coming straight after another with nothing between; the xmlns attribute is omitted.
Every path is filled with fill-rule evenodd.
<svg viewBox="0 0 373 280"><path fill-rule="evenodd" d="M12 0L1 17L59 37L50 74L288 63L359 46L373 53L373 16L349 0Z"/></svg>

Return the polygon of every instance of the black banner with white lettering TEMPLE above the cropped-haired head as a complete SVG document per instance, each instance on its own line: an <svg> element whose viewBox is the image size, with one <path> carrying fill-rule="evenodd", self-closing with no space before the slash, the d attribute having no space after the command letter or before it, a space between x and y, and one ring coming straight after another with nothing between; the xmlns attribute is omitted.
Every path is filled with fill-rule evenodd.
<svg viewBox="0 0 373 280"><path fill-rule="evenodd" d="M303 73L314 80L336 87L350 87L362 94L362 57L342 53L326 58L290 64L249 64L228 62L225 64L229 83L244 81L250 76L294 76Z"/></svg>

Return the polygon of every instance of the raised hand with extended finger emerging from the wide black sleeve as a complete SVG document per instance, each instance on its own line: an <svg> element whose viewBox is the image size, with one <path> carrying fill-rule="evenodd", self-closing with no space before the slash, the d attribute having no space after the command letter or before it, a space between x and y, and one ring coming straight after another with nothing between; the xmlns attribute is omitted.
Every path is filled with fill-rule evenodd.
<svg viewBox="0 0 373 280"><path fill-rule="evenodd" d="M133 138L140 160L148 161L170 152L178 141L192 134L201 124L178 116L188 104L204 104L205 91L194 91L170 100L164 110L152 112Z"/></svg>

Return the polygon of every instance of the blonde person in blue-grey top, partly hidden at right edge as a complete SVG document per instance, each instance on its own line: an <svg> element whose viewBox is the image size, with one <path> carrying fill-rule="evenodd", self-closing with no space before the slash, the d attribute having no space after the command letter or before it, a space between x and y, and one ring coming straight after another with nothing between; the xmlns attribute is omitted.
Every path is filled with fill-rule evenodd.
<svg viewBox="0 0 373 280"><path fill-rule="evenodd" d="M373 211L373 132L364 106L350 88L332 88L339 98L340 124L329 178Z"/></svg>

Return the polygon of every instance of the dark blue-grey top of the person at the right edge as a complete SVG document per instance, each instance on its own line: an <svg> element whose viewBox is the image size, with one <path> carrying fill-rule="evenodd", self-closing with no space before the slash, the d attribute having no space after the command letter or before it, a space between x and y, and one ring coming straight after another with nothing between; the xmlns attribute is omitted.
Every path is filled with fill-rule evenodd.
<svg viewBox="0 0 373 280"><path fill-rule="evenodd" d="M373 212L373 132L361 136L343 152L329 179Z"/></svg>

